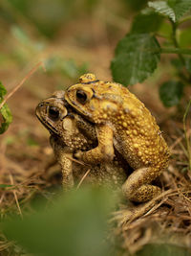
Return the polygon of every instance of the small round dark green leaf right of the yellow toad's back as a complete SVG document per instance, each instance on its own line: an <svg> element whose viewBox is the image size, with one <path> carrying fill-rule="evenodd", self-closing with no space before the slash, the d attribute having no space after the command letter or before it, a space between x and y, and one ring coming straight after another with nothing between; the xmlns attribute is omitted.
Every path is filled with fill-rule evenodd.
<svg viewBox="0 0 191 256"><path fill-rule="evenodd" d="M183 95L184 84L180 81L166 81L159 87L159 97L163 105L178 105Z"/></svg>

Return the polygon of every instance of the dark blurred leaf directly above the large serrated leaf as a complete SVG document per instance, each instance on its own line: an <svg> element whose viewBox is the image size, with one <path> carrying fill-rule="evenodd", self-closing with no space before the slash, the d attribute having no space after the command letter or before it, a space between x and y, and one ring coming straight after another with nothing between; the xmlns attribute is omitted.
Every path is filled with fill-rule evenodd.
<svg viewBox="0 0 191 256"><path fill-rule="evenodd" d="M162 17L156 12L138 14L134 19L131 33L145 34L159 30Z"/></svg>

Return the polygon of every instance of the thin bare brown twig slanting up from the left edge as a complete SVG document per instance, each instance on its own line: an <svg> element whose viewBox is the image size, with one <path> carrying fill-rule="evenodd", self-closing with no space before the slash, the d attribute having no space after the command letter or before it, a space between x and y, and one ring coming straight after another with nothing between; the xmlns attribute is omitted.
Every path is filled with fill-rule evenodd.
<svg viewBox="0 0 191 256"><path fill-rule="evenodd" d="M3 105L5 105L5 103L11 98L11 96L21 87L21 85L27 81L31 76L32 74L36 71L36 69L39 67L39 66L42 66L44 70L45 69L45 66L44 66L44 63L42 61L38 62L33 68L32 70L24 77L24 79L22 81L20 81L14 88L12 88L11 92L9 94L7 94L4 98L4 100L2 101L2 103L0 104L0 109L2 108Z"/></svg>

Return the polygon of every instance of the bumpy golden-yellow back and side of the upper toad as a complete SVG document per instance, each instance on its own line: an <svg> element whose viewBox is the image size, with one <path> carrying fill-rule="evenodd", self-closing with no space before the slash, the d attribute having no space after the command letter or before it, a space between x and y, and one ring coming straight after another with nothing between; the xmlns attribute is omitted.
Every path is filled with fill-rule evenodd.
<svg viewBox="0 0 191 256"><path fill-rule="evenodd" d="M115 147L133 168L165 168L168 147L155 118L134 94L110 81L81 82L74 87L94 92L89 104L79 106L79 112L96 124L113 128Z"/></svg>

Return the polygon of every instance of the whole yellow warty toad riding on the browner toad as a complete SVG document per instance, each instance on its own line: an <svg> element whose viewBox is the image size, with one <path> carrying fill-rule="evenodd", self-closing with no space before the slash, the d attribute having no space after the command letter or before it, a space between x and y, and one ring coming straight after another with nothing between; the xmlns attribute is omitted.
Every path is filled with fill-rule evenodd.
<svg viewBox="0 0 191 256"><path fill-rule="evenodd" d="M123 193L133 201L159 195L152 180L168 166L169 150L149 110L121 84L96 80L85 74L68 88L65 100L96 125L98 146L78 157L87 163L108 162L114 146L135 170L123 184Z"/></svg>

